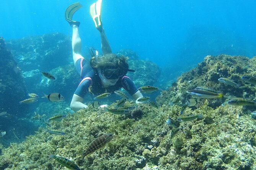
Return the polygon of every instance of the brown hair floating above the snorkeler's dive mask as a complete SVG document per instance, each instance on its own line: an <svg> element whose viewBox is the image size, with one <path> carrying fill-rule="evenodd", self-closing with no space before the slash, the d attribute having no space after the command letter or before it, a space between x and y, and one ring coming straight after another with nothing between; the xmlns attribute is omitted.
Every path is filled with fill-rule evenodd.
<svg viewBox="0 0 256 170"><path fill-rule="evenodd" d="M95 71L96 69L104 69L104 67L112 67L113 69L122 69L126 74L129 68L127 59L128 57L109 53L99 57L92 57L90 65Z"/></svg>

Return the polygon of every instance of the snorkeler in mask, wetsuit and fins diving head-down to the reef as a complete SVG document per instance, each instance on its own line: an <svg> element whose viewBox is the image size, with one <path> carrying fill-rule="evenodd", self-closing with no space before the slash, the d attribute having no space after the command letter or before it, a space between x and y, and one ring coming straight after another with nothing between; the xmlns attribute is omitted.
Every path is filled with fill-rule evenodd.
<svg viewBox="0 0 256 170"><path fill-rule="evenodd" d="M90 61L81 55L81 39L78 32L80 22L72 20L73 14L82 8L82 5L79 2L73 3L68 6L65 12L65 19L73 29L73 61L82 78L70 103L70 107L74 111L88 107L82 102L89 88L90 92L100 95L102 93L114 93L123 87L136 100L136 103L140 103L138 99L143 97L142 93L135 87L134 82L126 76L126 73L131 71L127 64L127 58L117 56L111 51L101 22L101 2L102 0L98 0L90 6L90 15L100 33L103 56L93 56Z"/></svg>

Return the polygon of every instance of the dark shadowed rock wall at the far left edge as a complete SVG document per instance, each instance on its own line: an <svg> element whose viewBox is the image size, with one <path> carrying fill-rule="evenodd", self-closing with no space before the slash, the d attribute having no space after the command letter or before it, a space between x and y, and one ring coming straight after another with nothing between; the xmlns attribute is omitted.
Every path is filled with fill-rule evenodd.
<svg viewBox="0 0 256 170"><path fill-rule="evenodd" d="M7 50L5 40L0 37L0 112L16 115L24 107L18 102L26 94L26 87L13 55Z"/></svg>

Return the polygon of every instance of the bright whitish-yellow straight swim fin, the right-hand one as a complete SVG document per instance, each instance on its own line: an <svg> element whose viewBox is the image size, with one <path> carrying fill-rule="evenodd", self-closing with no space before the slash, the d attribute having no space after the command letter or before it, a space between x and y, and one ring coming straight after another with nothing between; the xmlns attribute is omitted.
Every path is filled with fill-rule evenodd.
<svg viewBox="0 0 256 170"><path fill-rule="evenodd" d="M102 0L98 0L97 2L91 4L89 11L91 18L93 19L93 22L95 24L95 27L99 30L99 32L102 32L101 3Z"/></svg>

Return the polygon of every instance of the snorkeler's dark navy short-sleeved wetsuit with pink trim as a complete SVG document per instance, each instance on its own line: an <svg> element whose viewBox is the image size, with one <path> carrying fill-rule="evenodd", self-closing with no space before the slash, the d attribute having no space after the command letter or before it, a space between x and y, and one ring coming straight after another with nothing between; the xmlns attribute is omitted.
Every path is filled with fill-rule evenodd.
<svg viewBox="0 0 256 170"><path fill-rule="evenodd" d="M79 83L75 94L84 98L90 85L92 86L92 93L95 95L100 95L102 93L114 93L114 91L119 90L119 88L124 88L132 96L138 91L134 82L127 77L126 75L119 78L115 85L104 88L101 79L99 78L98 73L95 73L92 67L89 64L89 61L85 58L78 59L75 68L82 78L82 81Z"/></svg>

